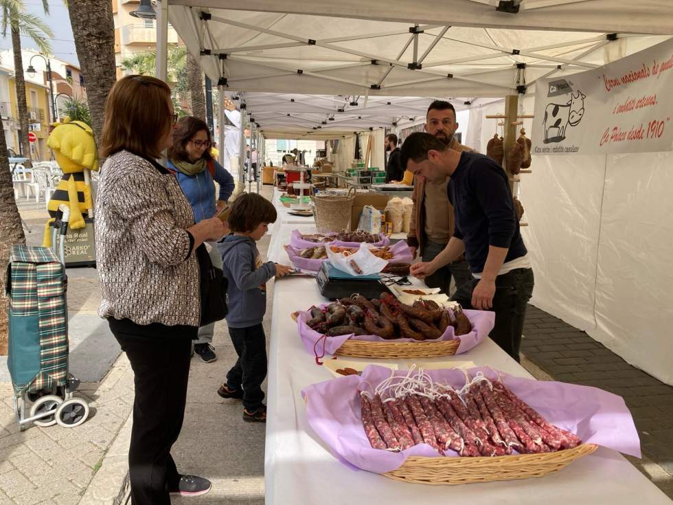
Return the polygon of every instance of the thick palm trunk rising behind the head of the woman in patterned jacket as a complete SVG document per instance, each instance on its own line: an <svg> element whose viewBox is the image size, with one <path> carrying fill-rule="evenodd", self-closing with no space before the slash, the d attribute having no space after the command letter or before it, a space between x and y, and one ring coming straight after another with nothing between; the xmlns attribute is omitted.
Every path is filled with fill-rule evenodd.
<svg viewBox="0 0 673 505"><path fill-rule="evenodd" d="M100 146L105 100L117 80L115 25L110 0L69 0L70 24L91 111L91 127Z"/></svg>

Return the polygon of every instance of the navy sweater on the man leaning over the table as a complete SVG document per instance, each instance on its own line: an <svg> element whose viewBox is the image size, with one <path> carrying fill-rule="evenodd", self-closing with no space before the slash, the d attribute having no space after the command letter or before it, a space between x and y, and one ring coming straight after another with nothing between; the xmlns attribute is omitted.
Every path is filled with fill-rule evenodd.
<svg viewBox="0 0 673 505"><path fill-rule="evenodd" d="M453 236L465 244L472 273L486 265L488 246L507 248L505 263L527 254L505 170L488 156L461 153L446 188L453 205Z"/></svg>

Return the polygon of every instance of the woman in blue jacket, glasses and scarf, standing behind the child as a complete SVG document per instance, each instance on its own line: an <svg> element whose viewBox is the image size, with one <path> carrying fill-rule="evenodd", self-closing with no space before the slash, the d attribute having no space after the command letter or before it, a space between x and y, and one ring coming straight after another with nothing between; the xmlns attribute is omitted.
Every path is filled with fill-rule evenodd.
<svg viewBox="0 0 673 505"><path fill-rule="evenodd" d="M174 172L185 197L194 210L194 221L216 216L225 207L233 193L233 177L210 153L210 131L202 120L187 116L181 117L173 128L173 143L168 149L168 170ZM215 184L220 192L215 201ZM222 268L222 258L214 243L210 244L210 259L213 265ZM194 352L205 363L217 359L212 346L215 323L198 328L198 340L194 343Z"/></svg>

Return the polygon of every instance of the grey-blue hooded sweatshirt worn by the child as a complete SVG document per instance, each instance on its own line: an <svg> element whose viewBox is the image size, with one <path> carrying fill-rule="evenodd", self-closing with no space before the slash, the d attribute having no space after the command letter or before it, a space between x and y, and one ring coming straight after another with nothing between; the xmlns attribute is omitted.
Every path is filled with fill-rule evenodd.
<svg viewBox="0 0 673 505"><path fill-rule="evenodd" d="M217 248L229 281L227 324L231 328L261 324L266 312L266 281L275 276L275 264L262 263L252 238L232 234L218 242Z"/></svg>

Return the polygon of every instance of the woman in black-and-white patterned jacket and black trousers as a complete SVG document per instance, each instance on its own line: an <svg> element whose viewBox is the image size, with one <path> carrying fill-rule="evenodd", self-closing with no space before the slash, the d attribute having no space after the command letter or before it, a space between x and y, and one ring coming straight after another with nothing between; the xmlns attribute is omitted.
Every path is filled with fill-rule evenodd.
<svg viewBox="0 0 673 505"><path fill-rule="evenodd" d="M182 428L192 340L201 320L196 247L229 228L194 221L176 177L157 163L172 144L170 88L148 76L118 80L107 98L95 202L98 313L133 368L128 449L133 505L201 495L208 480L181 475L170 450Z"/></svg>

